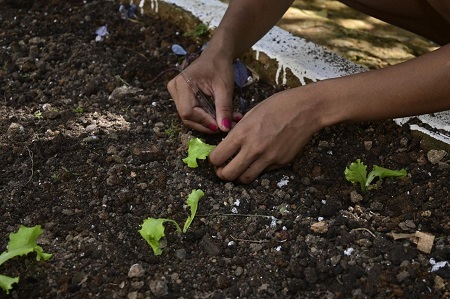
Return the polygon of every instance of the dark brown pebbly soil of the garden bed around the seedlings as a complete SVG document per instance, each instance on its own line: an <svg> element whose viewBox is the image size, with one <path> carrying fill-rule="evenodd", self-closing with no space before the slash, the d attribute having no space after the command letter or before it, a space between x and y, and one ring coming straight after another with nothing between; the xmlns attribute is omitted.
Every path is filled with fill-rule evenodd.
<svg viewBox="0 0 450 299"><path fill-rule="evenodd" d="M250 185L219 180L206 161L190 169L187 140L223 136L183 127L165 88L174 74L158 75L179 61L172 44L194 52L208 37L118 8L2 1L0 244L41 225L53 256L3 264L20 282L0 297L450 298L445 152L385 121L327 128ZM276 91L258 82L243 97L254 105ZM356 159L408 174L362 193L344 177ZM186 234L168 225L155 256L143 220L182 225L193 189L205 192L198 215ZM434 236L431 252L413 242L423 238L392 236L416 232Z"/></svg>

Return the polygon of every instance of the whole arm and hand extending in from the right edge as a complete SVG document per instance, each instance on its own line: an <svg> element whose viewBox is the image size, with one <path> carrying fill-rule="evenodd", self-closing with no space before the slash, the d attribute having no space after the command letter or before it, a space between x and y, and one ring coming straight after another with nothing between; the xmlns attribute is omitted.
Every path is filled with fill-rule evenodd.
<svg viewBox="0 0 450 299"><path fill-rule="evenodd" d="M244 116L210 161L222 179L250 183L289 163L324 127L447 109L450 45L396 66L275 94Z"/></svg>

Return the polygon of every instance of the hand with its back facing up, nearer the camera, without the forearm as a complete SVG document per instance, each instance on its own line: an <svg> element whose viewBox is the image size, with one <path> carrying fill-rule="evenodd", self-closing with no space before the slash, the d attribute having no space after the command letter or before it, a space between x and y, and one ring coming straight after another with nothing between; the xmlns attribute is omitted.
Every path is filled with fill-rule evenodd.
<svg viewBox="0 0 450 299"><path fill-rule="evenodd" d="M209 160L221 179L247 184L263 171L287 165L323 128L320 101L301 90L305 87L258 104L217 145Z"/></svg>

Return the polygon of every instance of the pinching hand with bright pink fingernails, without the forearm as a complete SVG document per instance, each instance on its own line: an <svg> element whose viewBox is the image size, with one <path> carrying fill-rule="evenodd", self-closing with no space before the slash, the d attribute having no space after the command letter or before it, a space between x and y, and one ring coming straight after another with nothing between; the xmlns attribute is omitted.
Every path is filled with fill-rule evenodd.
<svg viewBox="0 0 450 299"><path fill-rule="evenodd" d="M211 57L205 51L183 74L173 78L167 84L167 89L186 126L203 133L212 133L229 131L232 120L242 117L240 113L233 113L233 85L232 62ZM201 108L202 104L193 91L195 87L206 96L213 97L215 117Z"/></svg>

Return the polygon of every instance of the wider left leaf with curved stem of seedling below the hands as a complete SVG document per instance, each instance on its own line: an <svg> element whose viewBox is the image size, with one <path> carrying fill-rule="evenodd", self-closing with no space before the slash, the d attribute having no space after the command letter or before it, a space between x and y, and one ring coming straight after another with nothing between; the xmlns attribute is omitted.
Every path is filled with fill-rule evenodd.
<svg viewBox="0 0 450 299"><path fill-rule="evenodd" d="M159 247L159 240L166 236L164 233L164 222L172 222L176 226L177 231L181 232L178 223L172 219L164 218L147 218L144 220L142 228L139 230L139 233L153 249L155 255L162 254L162 250Z"/></svg>

